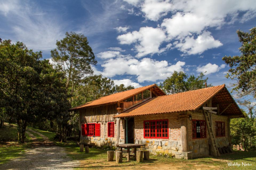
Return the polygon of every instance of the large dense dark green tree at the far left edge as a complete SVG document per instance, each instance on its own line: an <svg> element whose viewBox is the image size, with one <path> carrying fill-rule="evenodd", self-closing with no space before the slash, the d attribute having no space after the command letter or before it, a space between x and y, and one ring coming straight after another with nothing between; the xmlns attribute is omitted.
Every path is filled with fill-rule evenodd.
<svg viewBox="0 0 256 170"><path fill-rule="evenodd" d="M18 139L24 142L28 122L33 120L38 108L40 58L42 53L32 52L22 42L0 43L0 90L5 100L5 111L15 118Z"/></svg>

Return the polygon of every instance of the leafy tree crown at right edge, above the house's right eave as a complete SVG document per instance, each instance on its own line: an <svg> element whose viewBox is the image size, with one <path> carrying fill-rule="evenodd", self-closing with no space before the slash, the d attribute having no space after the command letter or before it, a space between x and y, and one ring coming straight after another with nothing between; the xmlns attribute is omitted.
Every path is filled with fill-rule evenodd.
<svg viewBox="0 0 256 170"><path fill-rule="evenodd" d="M239 41L242 46L239 48L240 56L225 56L222 60L229 65L227 78L236 80L234 90L241 90L246 94L251 94L255 98L256 89L256 27L250 32L237 31Z"/></svg>

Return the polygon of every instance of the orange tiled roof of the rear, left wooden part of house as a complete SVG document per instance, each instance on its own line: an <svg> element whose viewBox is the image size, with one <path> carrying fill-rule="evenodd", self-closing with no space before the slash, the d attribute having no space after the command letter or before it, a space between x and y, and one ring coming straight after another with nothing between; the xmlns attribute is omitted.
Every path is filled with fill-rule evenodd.
<svg viewBox="0 0 256 170"><path fill-rule="evenodd" d="M117 103L119 101L128 99L131 96L139 94L139 93L141 93L145 90L148 90L152 87L155 87L155 91L157 91L160 95L166 95L162 90L160 90L160 88L158 86L156 86L156 84L151 84L149 86L144 86L144 87L135 88L135 89L132 89L132 90L119 92L119 93L112 94L112 95L109 95L109 96L104 96L104 97L101 97L97 100L93 100L93 101L90 101L88 103L79 105L75 108L71 108L69 110L75 110L75 109L80 109L80 108L85 108L85 107L92 107L92 106L96 106L96 105Z"/></svg>

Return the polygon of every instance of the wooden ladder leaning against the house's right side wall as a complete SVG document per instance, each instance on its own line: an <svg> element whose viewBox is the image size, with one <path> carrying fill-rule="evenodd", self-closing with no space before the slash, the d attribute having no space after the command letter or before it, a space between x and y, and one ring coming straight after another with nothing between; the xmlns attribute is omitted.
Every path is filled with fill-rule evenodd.
<svg viewBox="0 0 256 170"><path fill-rule="evenodd" d="M213 134L212 125L211 125L211 122L210 122L208 111L203 110L203 112L204 112L205 121L207 122L207 129L208 129L208 132L209 132L209 135L210 135L210 141L212 142L214 156L216 156L216 157L220 156L220 152L218 152L218 146L217 146L216 138Z"/></svg>

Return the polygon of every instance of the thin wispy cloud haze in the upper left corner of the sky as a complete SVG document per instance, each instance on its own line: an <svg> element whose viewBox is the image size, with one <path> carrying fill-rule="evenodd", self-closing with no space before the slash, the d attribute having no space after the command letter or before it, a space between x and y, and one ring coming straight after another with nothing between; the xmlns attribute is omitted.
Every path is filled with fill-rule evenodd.
<svg viewBox="0 0 256 170"><path fill-rule="evenodd" d="M0 16L3 14L11 27L13 41L22 41L33 50L48 51L56 46L56 40L64 37L59 18L44 13L34 2L0 2Z"/></svg>

